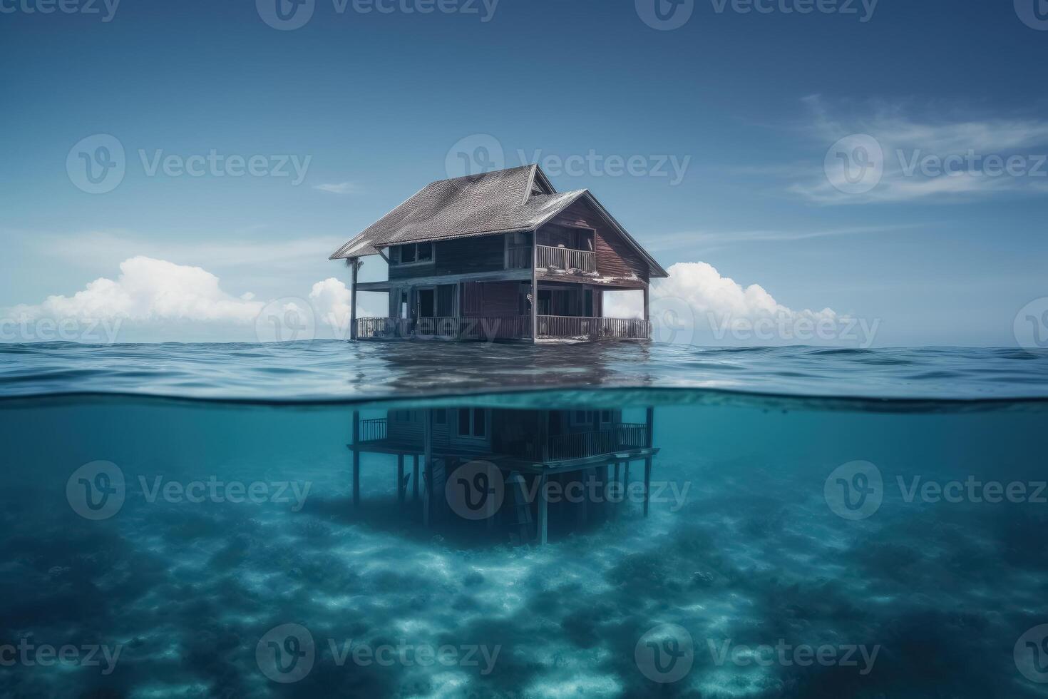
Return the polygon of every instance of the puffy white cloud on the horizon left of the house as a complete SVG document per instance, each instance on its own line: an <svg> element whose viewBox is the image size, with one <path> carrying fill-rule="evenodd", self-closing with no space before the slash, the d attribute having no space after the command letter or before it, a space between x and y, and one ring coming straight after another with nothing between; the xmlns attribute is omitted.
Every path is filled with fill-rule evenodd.
<svg viewBox="0 0 1048 699"><path fill-rule="evenodd" d="M121 263L115 281L102 277L71 297L51 296L37 305L15 306L9 315L84 323L123 319L246 324L254 322L262 306L249 294L237 298L223 291L218 277L200 267L137 256Z"/></svg>

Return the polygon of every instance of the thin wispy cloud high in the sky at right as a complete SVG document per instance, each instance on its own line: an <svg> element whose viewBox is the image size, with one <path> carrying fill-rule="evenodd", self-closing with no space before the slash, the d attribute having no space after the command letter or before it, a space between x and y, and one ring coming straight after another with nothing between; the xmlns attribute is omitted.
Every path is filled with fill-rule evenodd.
<svg viewBox="0 0 1048 699"><path fill-rule="evenodd" d="M852 175L865 172L857 160L811 163L787 175L794 180L787 191L816 203L960 203L1038 194L1048 179L1048 119L981 117L941 108L922 116L908 105L829 104L818 95L804 103L811 113L806 131L821 146L821 156L856 134L872 136L880 150L873 149L872 160L882 172L868 191L845 181L846 162ZM852 150L845 146L846 154ZM1013 171L1006 169L1009 158L1018 163Z"/></svg>

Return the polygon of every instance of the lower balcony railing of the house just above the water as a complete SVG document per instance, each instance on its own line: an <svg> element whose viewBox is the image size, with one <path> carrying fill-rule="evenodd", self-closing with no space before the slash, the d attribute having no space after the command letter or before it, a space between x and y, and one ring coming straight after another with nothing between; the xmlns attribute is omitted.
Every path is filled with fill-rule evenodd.
<svg viewBox="0 0 1048 699"><path fill-rule="evenodd" d="M648 340L651 323L639 319L539 315L540 340ZM356 320L357 340L529 340L530 315Z"/></svg>

